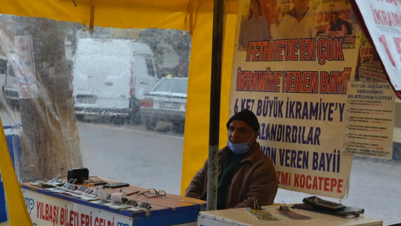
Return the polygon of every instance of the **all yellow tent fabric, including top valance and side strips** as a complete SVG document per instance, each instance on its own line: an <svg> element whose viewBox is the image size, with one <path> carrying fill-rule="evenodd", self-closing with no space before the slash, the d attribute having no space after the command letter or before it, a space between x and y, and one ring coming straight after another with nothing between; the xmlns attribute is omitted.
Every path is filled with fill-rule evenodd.
<svg viewBox="0 0 401 226"><path fill-rule="evenodd" d="M209 99L213 0L2 0L0 13L44 17L89 24L91 5L95 8L94 25L115 28L164 28L189 30L190 4L193 11L193 36L188 80L188 99L182 165L182 193L207 158L209 137ZM231 64L235 35L237 0L226 0L225 44L221 94L220 144L227 141ZM32 225L24 206L18 181L13 173L4 132L0 143L0 170L11 226ZM24 216L24 217L22 217Z"/></svg>

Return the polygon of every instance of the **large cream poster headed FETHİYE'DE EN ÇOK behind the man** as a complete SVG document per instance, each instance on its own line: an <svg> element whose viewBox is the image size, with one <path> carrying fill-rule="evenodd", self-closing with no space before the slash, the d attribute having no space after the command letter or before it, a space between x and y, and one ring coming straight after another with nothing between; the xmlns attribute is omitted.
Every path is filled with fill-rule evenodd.
<svg viewBox="0 0 401 226"><path fill-rule="evenodd" d="M279 188L343 198L352 163L344 111L361 36L350 3L240 0L238 15L230 116L257 115Z"/></svg>

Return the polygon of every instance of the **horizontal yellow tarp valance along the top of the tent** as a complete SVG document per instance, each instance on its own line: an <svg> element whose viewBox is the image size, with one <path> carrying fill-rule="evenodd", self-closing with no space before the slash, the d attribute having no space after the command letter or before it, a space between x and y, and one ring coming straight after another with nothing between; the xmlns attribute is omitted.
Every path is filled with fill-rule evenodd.
<svg viewBox="0 0 401 226"><path fill-rule="evenodd" d="M213 1L193 2L195 14L213 12ZM75 3L77 7L72 0L2 0L0 13L88 25L90 0L75 0ZM236 14L237 4L230 1L228 12ZM189 0L95 0L95 25L101 27L189 30L189 25L184 23L188 14ZM196 23L196 16L194 20Z"/></svg>

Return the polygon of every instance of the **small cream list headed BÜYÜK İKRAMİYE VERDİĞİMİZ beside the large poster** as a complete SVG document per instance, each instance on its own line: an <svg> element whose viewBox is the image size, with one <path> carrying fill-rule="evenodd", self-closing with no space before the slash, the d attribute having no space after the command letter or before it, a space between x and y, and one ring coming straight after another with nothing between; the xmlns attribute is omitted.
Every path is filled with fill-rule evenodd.
<svg viewBox="0 0 401 226"><path fill-rule="evenodd" d="M346 152L391 159L395 95L389 83L348 83Z"/></svg>

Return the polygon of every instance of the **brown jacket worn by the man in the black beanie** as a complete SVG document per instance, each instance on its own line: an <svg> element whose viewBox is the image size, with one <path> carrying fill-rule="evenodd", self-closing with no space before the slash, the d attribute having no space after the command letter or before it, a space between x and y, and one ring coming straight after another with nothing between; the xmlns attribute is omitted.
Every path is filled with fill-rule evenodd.
<svg viewBox="0 0 401 226"><path fill-rule="evenodd" d="M218 175L222 173L228 147L219 151ZM207 164L206 160L188 188L185 196L202 199L207 192ZM245 155L244 159L235 168L233 180L227 194L226 208L253 207L253 199L256 198L259 206L273 204L277 194L277 174L270 159L260 150L259 143Z"/></svg>

